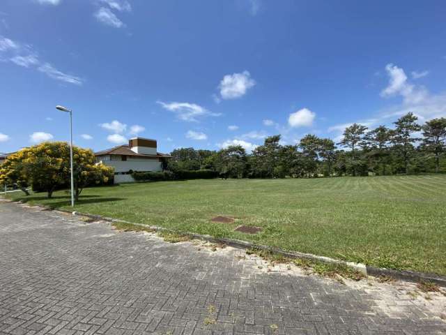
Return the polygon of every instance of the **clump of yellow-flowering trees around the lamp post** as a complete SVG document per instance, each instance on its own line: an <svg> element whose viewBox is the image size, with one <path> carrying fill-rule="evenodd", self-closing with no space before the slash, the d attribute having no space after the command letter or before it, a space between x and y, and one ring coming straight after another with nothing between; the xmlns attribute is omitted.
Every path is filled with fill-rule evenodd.
<svg viewBox="0 0 446 335"><path fill-rule="evenodd" d="M75 197L86 186L107 184L114 171L95 164L93 151L73 147ZM33 185L46 191L48 198L56 188L70 184L70 146L66 142L44 142L8 156L0 166L0 184Z"/></svg>

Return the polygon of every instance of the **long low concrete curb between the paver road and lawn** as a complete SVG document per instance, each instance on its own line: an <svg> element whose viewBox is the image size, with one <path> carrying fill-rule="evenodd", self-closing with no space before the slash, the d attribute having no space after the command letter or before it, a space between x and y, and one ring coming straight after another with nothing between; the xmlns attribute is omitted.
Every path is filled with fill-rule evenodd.
<svg viewBox="0 0 446 335"><path fill-rule="evenodd" d="M57 209L58 211L63 211L65 213L77 215L77 216L88 216L90 218L95 218L98 220L103 221L109 221L111 223L128 223L130 225L137 225L141 227L148 228L150 230L154 230L156 232L174 232L178 233L176 230L170 230L167 228L158 227L157 225L144 225L144 223L134 223L130 221L120 220L116 218L108 218L105 216L100 216L96 214L87 214L87 213L81 213L78 211L72 212L68 210L61 210ZM333 258L325 257L325 256L318 256L313 255L312 253L299 253L297 251L295 252L289 252L284 251L280 248L275 248L271 246L264 246L259 244L254 244L248 241L242 241L239 239L228 239L226 237L217 238L212 237L210 235L203 235L203 234L194 234L192 232L180 232L181 234L185 234L192 239L201 239L203 241L208 241L210 243L220 243L220 244L226 244L227 246L232 246L233 248L240 248L240 249L251 249L256 248L258 250L268 251L275 255L281 255L284 258L291 258L291 259L304 259L304 260L313 260L316 262L325 262L330 265L346 265L347 267L351 267L355 269L356 271L361 272L362 274L366 276L374 276L374 277L380 277L380 276L387 276L390 278L395 278L401 281L408 281L411 283L435 283L437 285L440 285L441 287L446 288L446 276L440 276L438 274L428 274L424 272L418 272L418 271L411 271L411 270L397 270L397 269L385 269L380 267L372 267L370 265L364 265L361 263L355 263L355 262L346 262L344 260L335 260Z"/></svg>

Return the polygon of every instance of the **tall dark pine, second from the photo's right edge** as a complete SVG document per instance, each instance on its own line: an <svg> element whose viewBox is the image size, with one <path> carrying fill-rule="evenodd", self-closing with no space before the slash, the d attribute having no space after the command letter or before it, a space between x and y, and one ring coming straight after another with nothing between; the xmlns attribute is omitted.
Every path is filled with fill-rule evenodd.
<svg viewBox="0 0 446 335"><path fill-rule="evenodd" d="M421 130L421 126L417 124L417 119L413 113L409 112L394 122L397 127L392 131L392 142L403 159L406 174L408 174L408 165L414 149L413 143L420 140L420 138L413 137L413 133Z"/></svg>

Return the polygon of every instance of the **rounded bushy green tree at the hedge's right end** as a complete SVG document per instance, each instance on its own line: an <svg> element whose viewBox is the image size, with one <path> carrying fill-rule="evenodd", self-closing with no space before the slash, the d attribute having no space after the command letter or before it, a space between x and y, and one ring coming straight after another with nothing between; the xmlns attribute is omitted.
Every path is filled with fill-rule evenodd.
<svg viewBox="0 0 446 335"><path fill-rule="evenodd" d="M215 161L217 171L224 177L243 178L246 174L246 151L240 145L221 149Z"/></svg>

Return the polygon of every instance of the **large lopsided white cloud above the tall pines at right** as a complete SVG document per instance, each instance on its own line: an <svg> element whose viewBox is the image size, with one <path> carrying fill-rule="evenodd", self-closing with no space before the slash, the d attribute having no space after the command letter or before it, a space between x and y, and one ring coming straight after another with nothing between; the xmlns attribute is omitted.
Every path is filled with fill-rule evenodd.
<svg viewBox="0 0 446 335"><path fill-rule="evenodd" d="M402 68L393 64L385 66L387 75L389 76L389 84L381 91L381 96L387 98L400 95L404 98L404 103L416 104L421 103L427 96L428 92L424 87L415 87L408 83L407 75Z"/></svg>

